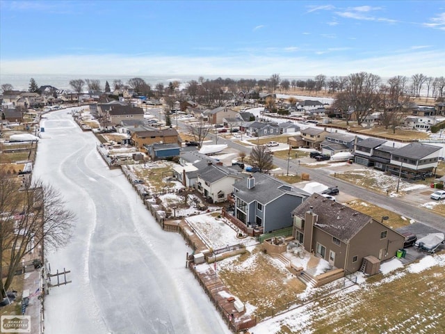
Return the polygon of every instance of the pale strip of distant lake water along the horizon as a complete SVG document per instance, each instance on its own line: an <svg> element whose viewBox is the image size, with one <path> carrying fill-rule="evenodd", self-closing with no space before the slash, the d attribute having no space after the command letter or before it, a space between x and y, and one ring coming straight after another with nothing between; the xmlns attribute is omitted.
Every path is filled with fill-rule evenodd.
<svg viewBox="0 0 445 334"><path fill-rule="evenodd" d="M104 75L92 75L92 74L1 74L0 73L0 85L3 84L11 84L13 85L15 90L28 90L29 81L31 78L35 79L38 86L54 86L58 89L72 90L70 86L70 81L74 79L99 79L102 88L105 87L106 81L110 86L113 86L114 80L121 80L124 84L127 84L129 79L134 77L140 77L144 79L147 84L150 84L153 88L157 84L163 84L164 86L168 86L168 84L172 81L179 81L181 86L185 87L186 84L191 80L198 80L200 75L113 75L113 74L104 74ZM204 79L217 79L221 77L223 79L230 78L234 80L238 79L268 79L270 76L261 76L258 75L256 77L249 76L202 76ZM281 79L289 79L289 81L293 79L309 79L309 77L280 77ZM312 78L311 78L312 79Z"/></svg>

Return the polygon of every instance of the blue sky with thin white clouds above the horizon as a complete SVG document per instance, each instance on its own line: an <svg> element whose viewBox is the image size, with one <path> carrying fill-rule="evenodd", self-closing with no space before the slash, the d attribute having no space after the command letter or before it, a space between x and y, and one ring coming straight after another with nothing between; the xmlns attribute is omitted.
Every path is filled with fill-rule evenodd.
<svg viewBox="0 0 445 334"><path fill-rule="evenodd" d="M445 75L445 1L4 1L3 74Z"/></svg>

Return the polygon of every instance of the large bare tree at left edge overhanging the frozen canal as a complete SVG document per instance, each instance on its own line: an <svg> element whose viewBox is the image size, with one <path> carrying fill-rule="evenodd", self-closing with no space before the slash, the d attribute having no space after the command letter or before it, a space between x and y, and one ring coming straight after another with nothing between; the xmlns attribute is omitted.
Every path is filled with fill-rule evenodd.
<svg viewBox="0 0 445 334"><path fill-rule="evenodd" d="M26 254L40 248L65 246L72 236L74 214L65 209L62 196L53 186L34 180L20 188L16 177L0 170L0 291L10 287ZM36 256L37 257L37 256Z"/></svg>

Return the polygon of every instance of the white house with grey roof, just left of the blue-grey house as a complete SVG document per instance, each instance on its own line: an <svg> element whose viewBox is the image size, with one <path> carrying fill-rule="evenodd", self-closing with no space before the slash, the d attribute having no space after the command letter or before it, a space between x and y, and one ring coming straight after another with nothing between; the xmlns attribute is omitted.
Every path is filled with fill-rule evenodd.
<svg viewBox="0 0 445 334"><path fill-rule="evenodd" d="M207 166L198 171L195 186L208 202L225 202L232 193L233 184L245 176L232 168L214 165L209 161Z"/></svg>

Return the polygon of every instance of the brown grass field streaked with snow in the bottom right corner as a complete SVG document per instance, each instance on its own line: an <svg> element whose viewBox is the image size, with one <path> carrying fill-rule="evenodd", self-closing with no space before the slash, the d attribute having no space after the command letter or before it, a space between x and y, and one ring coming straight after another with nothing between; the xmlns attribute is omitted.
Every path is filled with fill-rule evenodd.
<svg viewBox="0 0 445 334"><path fill-rule="evenodd" d="M250 333L443 333L445 254L428 255L263 321ZM409 331L407 329L409 328Z"/></svg>

